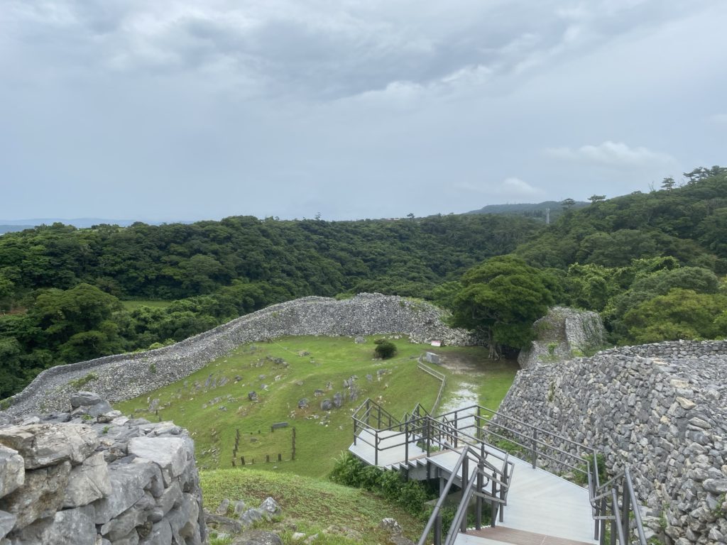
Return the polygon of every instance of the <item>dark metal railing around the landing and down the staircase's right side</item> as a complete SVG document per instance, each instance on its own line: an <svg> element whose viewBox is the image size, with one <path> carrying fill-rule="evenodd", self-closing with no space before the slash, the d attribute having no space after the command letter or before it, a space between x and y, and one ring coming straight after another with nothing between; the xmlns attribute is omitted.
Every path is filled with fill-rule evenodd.
<svg viewBox="0 0 727 545"><path fill-rule="evenodd" d="M375 427L372 421L377 424ZM382 424L386 424L382 426ZM481 405L470 405L438 416L432 416L417 404L411 414L396 419L379 404L366 400L353 414L353 443L363 441L374 448L374 465L379 465L379 451L404 447L403 464L410 461L411 446L417 447L417 457L426 453L427 458L433 451L458 450L463 452L481 451L479 456L498 457L502 451L507 456L507 448L516 447L523 459L529 459L533 468L540 463L547 467L559 467L566 472L582 475L588 484L590 505L594 520L594 539L605 544L606 525L611 522L611 544L624 541L630 536L630 521L635 525L635 533L640 545L646 545L643 538L643 524L638 510L637 499L628 468L606 483L599 482L598 453L594 448L577 443L568 437L548 432L545 429L515 419L512 416L493 411ZM382 441L386 444L382 445ZM493 445L503 440L510 445ZM485 448L485 446L489 448ZM569 450L566 450L569 448ZM450 480L457 478L455 469ZM464 475L464 474L463 474ZM509 483L501 479L502 483ZM460 484L463 489L469 486L463 476ZM451 486L451 485L450 485ZM473 489L474 490L474 489ZM445 488L449 492L449 488ZM507 487L505 488L507 491ZM477 491L474 492L478 493ZM471 494L470 494L471 497ZM620 502L617 498L621 498ZM615 498L615 499L614 499ZM441 497L440 500L443 501ZM466 504L465 504L466 505ZM632 513L632 515L630 514ZM502 520L502 508L499 509ZM493 512L494 520L494 512ZM456 521L455 521L456 522ZM455 525L453 524L453 527ZM431 530L426 530L428 533ZM617 540L617 541L616 541ZM437 544L438 545L438 544Z"/></svg>

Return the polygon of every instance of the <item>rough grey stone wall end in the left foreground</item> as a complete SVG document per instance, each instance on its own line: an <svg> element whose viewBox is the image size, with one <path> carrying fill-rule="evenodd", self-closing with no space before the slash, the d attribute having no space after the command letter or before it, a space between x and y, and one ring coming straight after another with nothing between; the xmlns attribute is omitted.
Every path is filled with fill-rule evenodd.
<svg viewBox="0 0 727 545"><path fill-rule="evenodd" d="M0 545L201 545L193 442L90 392L0 426Z"/></svg>

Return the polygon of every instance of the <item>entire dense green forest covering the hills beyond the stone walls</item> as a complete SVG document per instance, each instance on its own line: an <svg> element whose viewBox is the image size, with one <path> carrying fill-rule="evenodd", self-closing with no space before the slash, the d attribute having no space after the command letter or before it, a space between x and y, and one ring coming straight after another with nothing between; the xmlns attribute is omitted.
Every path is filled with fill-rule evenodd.
<svg viewBox="0 0 727 545"><path fill-rule="evenodd" d="M307 295L430 299L494 354L526 345L553 304L601 312L614 344L715 338L727 335L726 273L719 166L566 202L551 225L500 214L56 223L0 236L0 397L50 366L169 344ZM167 303L121 303L134 299Z"/></svg>

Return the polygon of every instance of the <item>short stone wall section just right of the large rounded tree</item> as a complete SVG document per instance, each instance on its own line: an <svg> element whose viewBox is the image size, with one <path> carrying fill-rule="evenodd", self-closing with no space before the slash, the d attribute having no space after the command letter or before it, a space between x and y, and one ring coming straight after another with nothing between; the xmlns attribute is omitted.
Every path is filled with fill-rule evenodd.
<svg viewBox="0 0 727 545"><path fill-rule="evenodd" d="M533 324L533 328L537 339L518 355L518 363L523 369L570 360L603 347L606 342L601 316L590 310L553 307Z"/></svg>

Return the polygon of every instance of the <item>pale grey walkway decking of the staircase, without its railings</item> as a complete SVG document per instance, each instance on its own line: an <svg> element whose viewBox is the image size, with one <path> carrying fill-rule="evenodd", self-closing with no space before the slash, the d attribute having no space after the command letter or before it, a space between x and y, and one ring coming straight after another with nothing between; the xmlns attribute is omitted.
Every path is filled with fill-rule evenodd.
<svg viewBox="0 0 727 545"><path fill-rule="evenodd" d="M374 430L364 429L359 437L364 437L374 443ZM379 432L384 437L379 442L378 466L387 469L397 469L404 466L404 447L393 444L401 442L402 437L391 437L395 432ZM367 464L374 465L374 447L357 440L356 445L348 449ZM381 449L384 450L381 450ZM488 447L491 453L502 456L504 453L495 448ZM409 444L409 460L418 460L420 463L430 461L443 472L451 474L451 469L459 459L457 451L442 451L432 453L427 458L426 452L413 443ZM515 464L510 491L505 507L505 521L497 522L500 533L492 533L483 528L479 532L470 530L467 534L459 534L457 545L494 545L494 544L522 544L522 545L573 545L597 544L593 539L594 522L591 506L586 488L570 483L569 481L553 475L544 469L533 469L529 462L510 456ZM470 468L470 472L473 471ZM509 536L502 531L513 530ZM519 533L518 533L519 532ZM510 541L505 541L505 538ZM511 541L520 540L520 541ZM529 541L528 541L529 540ZM540 540L540 541L538 541ZM544 541L545 540L545 541ZM559 541L558 541L559 540Z"/></svg>

